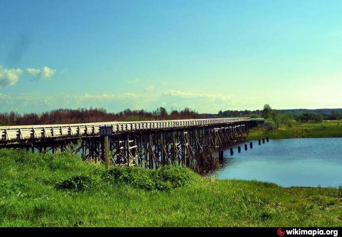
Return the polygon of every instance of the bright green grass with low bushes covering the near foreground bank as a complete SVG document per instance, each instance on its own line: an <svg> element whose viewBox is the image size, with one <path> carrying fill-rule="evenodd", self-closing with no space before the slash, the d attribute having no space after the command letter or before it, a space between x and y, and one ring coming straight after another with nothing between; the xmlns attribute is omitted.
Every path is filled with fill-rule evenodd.
<svg viewBox="0 0 342 237"><path fill-rule="evenodd" d="M0 149L0 226L342 226L342 189Z"/></svg>

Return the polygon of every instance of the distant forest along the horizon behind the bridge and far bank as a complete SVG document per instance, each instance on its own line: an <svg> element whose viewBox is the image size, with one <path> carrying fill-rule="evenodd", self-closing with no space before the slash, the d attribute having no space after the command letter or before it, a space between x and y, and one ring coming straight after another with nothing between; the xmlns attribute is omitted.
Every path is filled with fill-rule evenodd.
<svg viewBox="0 0 342 237"><path fill-rule="evenodd" d="M151 112L146 110L126 109L119 113L109 113L104 108L57 109L43 113L0 113L0 126L236 117L266 118L263 111L264 110L220 110L217 114L199 114L190 108L185 108L180 111L171 110L168 112L163 107L159 107ZM290 119L301 122L320 121L322 119L339 119L342 114L342 109L287 109L273 111L278 111L281 114L289 114Z"/></svg>

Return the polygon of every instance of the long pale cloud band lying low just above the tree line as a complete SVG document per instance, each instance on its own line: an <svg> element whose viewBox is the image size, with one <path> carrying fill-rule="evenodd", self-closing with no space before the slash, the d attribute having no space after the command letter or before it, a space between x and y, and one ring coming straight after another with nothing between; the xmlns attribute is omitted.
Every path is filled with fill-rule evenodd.
<svg viewBox="0 0 342 237"><path fill-rule="evenodd" d="M237 98L236 96L224 96L220 94L193 94L189 92L168 90L161 94L153 93L141 95L134 93L121 94L59 94L41 95L0 94L0 112L17 111L19 113L43 112L58 108L89 108L103 107L108 112L120 112L129 109L155 110L165 107L172 109L184 109L189 107L199 113L217 113L227 109L254 109L261 108L264 101L254 98Z"/></svg>

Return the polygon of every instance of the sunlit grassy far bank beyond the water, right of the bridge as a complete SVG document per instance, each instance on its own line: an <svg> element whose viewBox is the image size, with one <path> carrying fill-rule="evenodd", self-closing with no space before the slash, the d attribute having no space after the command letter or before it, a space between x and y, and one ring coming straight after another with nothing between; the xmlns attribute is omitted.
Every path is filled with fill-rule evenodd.
<svg viewBox="0 0 342 237"><path fill-rule="evenodd" d="M270 139L286 138L339 138L342 137L342 123L340 121L329 120L322 122L293 122L291 127L281 125L278 129L258 126L250 131L248 139Z"/></svg>

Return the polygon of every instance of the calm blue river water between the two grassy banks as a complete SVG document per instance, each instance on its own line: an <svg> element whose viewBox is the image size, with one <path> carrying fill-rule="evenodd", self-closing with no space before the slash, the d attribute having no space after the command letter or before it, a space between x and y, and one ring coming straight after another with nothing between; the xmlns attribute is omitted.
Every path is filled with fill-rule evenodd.
<svg viewBox="0 0 342 237"><path fill-rule="evenodd" d="M298 138L270 140L253 149L242 142L224 151L217 178L259 180L283 187L339 187L342 185L342 138ZM248 150L244 150L248 144Z"/></svg>

